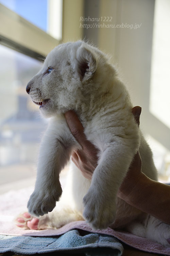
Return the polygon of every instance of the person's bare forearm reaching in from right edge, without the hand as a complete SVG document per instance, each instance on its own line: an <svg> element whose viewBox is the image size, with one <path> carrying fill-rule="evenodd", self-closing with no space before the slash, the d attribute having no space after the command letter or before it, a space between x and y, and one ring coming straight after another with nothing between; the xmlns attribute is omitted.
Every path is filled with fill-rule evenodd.
<svg viewBox="0 0 170 256"><path fill-rule="evenodd" d="M121 185L118 197L170 224L170 186L151 180L144 173L140 173L135 180L126 180L126 184Z"/></svg>

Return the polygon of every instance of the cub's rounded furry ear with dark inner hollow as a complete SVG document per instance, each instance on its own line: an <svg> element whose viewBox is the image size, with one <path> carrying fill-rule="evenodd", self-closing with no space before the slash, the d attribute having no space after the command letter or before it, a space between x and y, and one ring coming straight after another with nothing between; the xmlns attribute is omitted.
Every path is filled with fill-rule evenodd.
<svg viewBox="0 0 170 256"><path fill-rule="evenodd" d="M95 54L92 53L85 46L81 46L77 50L76 59L76 69L81 81L86 81L90 79L94 75L97 68L97 58Z"/></svg>

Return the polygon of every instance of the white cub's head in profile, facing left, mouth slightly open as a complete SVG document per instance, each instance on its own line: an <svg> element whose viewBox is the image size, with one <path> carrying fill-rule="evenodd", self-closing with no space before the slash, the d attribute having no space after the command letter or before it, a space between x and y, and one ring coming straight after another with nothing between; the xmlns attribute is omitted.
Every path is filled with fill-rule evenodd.
<svg viewBox="0 0 170 256"><path fill-rule="evenodd" d="M110 69L105 55L95 47L83 41L60 44L47 55L26 91L40 105L41 114L51 117L88 105L90 95L102 90Z"/></svg>

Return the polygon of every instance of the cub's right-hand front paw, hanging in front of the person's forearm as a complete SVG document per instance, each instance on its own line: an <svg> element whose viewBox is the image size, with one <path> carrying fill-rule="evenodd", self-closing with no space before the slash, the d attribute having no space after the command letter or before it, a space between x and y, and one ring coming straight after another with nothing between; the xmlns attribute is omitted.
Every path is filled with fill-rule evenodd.
<svg viewBox="0 0 170 256"><path fill-rule="evenodd" d="M83 198L83 216L92 229L105 229L115 220L116 199L109 200L104 195L89 189Z"/></svg>

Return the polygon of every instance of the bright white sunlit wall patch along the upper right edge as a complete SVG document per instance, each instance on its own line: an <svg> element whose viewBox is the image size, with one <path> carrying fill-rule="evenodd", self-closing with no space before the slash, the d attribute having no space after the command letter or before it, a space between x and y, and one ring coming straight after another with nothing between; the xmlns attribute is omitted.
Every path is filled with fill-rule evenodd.
<svg viewBox="0 0 170 256"><path fill-rule="evenodd" d="M150 111L170 128L170 1L155 1Z"/></svg>

